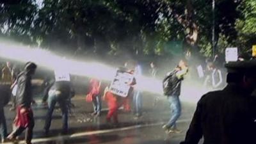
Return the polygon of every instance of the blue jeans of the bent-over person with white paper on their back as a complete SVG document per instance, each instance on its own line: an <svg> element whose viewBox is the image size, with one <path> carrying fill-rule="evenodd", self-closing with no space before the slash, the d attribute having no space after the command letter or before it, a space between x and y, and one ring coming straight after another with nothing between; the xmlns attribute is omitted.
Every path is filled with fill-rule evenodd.
<svg viewBox="0 0 256 144"><path fill-rule="evenodd" d="M62 132L67 132L68 130L68 100L62 99L60 96L55 95L54 93L52 95L49 95L48 97L48 112L45 119L45 132L49 131L49 128L51 127L51 120L52 120L52 113L55 107L56 102L58 102L61 113L62 113Z"/></svg>

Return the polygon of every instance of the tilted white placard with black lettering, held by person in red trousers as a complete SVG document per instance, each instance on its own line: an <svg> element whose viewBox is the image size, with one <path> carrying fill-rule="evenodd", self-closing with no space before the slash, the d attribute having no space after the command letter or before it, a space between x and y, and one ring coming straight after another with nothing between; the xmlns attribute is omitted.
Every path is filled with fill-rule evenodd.
<svg viewBox="0 0 256 144"><path fill-rule="evenodd" d="M132 83L133 79L132 74L117 70L109 90L120 97L127 97L131 88L129 84Z"/></svg>

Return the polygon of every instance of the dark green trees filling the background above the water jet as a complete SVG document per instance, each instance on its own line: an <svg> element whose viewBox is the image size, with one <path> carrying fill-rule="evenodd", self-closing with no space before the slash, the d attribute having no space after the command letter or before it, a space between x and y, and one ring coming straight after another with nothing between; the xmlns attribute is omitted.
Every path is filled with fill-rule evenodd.
<svg viewBox="0 0 256 144"><path fill-rule="evenodd" d="M256 43L254 0L216 0L214 14L218 52ZM82 56L163 56L169 42L212 54L212 0L5 0L0 15L0 35Z"/></svg>

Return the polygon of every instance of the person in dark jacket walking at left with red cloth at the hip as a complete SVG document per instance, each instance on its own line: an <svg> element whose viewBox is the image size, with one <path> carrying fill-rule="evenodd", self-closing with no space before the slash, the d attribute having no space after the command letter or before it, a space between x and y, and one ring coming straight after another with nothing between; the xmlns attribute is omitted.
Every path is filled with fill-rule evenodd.
<svg viewBox="0 0 256 144"><path fill-rule="evenodd" d="M33 101L31 77L35 74L35 63L28 62L24 72L17 77L17 113L14 125L17 127L9 136L8 140L15 140L26 129L25 141L31 143L33 138L33 127L35 125L31 103Z"/></svg>

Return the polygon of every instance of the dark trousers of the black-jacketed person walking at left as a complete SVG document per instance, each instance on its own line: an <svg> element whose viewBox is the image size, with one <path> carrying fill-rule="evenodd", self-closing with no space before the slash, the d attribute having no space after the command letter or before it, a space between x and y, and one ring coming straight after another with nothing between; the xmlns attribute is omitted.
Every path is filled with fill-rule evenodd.
<svg viewBox="0 0 256 144"><path fill-rule="evenodd" d="M29 119L29 123L27 127L17 127L12 133L12 137L15 138L16 136L19 136L25 129L26 129L26 134L25 134L25 141L30 143L32 138L33 138L33 128L35 126L35 120L34 120L34 116L33 113L27 113L26 114L28 119Z"/></svg>

